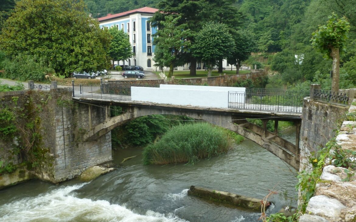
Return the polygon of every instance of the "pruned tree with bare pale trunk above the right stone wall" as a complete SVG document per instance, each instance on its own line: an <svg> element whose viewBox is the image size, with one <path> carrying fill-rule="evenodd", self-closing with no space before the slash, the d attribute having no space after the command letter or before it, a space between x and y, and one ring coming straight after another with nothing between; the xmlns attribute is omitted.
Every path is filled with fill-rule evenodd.
<svg viewBox="0 0 356 222"><path fill-rule="evenodd" d="M350 30L350 23L346 17L337 18L336 14L328 17L326 25L319 26L319 29L313 32L310 42L312 46L320 50L327 57L333 59L333 79L331 91L339 91L340 76L340 49L346 42L346 33Z"/></svg>

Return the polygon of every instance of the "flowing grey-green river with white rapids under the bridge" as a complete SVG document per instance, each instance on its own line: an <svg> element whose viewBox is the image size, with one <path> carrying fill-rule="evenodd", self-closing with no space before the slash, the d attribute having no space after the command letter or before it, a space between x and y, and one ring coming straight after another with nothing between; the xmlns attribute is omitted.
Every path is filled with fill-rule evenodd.
<svg viewBox="0 0 356 222"><path fill-rule="evenodd" d="M287 135L288 136L288 135ZM290 133L289 141L293 140ZM0 190L0 221L252 222L261 212L188 196L190 185L262 199L278 212L295 197L296 171L246 139L225 155L191 165L142 165L142 148L113 153L113 163L137 155L119 169L83 183L31 180ZM292 201L292 205L296 205Z"/></svg>

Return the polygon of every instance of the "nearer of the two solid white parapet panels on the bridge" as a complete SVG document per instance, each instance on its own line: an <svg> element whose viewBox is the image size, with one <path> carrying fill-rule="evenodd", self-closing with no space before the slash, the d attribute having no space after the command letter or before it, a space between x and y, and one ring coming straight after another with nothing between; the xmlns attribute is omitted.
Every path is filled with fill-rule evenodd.
<svg viewBox="0 0 356 222"><path fill-rule="evenodd" d="M131 86L131 100L183 106L214 107L227 109L228 91L165 89Z"/></svg>

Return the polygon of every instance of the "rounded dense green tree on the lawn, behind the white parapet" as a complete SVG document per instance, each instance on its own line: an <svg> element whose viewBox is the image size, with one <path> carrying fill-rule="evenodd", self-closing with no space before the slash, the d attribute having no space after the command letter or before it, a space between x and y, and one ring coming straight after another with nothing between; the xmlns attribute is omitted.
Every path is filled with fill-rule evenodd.
<svg viewBox="0 0 356 222"><path fill-rule="evenodd" d="M205 62L209 70L208 76L211 76L213 65L217 64L220 58L230 57L234 48L234 39L227 31L226 25L207 22L195 35L195 43L191 50L193 56Z"/></svg>

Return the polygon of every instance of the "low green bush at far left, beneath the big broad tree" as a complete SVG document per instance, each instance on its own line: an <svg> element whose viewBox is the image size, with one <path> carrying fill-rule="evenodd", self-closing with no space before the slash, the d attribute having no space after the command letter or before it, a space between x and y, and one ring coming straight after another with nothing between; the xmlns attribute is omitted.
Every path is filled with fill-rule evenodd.
<svg viewBox="0 0 356 222"><path fill-rule="evenodd" d="M47 67L43 58L26 54L19 54L12 60L5 59L0 64L0 68L4 70L0 73L1 77L21 81L44 81L46 75L54 73L52 68Z"/></svg>

